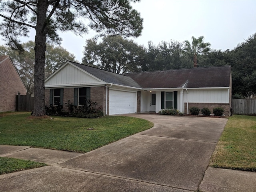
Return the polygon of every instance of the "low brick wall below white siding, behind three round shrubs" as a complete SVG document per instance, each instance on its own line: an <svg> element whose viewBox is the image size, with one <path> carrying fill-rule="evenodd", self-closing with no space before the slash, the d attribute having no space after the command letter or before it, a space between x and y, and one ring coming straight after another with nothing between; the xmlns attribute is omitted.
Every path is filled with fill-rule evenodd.
<svg viewBox="0 0 256 192"><path fill-rule="evenodd" d="M187 113L187 103L184 103L185 106L185 113ZM230 104L228 103L188 103L188 109L190 109L191 107L198 107L200 110L204 107L207 107L211 110L211 114L213 114L213 109L216 107L222 107L224 109L224 114L226 116L230 116ZM200 111L201 113L201 111ZM189 114L190 111L189 111Z"/></svg>

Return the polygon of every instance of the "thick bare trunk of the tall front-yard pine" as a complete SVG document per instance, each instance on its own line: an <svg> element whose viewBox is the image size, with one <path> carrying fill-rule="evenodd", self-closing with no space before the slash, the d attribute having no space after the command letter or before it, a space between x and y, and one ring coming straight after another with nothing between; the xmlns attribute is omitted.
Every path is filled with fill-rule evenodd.
<svg viewBox="0 0 256 192"><path fill-rule="evenodd" d="M48 1L38 1L35 36L35 71L34 71L34 116L46 115L44 106L44 64L46 52L46 12Z"/></svg>

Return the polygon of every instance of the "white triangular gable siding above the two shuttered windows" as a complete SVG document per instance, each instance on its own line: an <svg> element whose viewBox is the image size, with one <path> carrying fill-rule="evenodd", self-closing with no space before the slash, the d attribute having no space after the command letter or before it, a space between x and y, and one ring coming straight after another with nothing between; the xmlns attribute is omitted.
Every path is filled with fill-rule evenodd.
<svg viewBox="0 0 256 192"><path fill-rule="evenodd" d="M45 87L60 85L63 87L100 83L100 80L94 78L90 74L87 74L71 64L67 64L62 68L62 70L53 74L53 76L45 82Z"/></svg>

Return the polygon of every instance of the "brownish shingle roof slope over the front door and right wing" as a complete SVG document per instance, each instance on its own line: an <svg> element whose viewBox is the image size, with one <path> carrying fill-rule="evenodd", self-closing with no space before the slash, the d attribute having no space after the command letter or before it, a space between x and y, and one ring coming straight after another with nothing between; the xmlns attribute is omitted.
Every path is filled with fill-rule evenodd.
<svg viewBox="0 0 256 192"><path fill-rule="evenodd" d="M127 73L142 88L211 88L229 87L231 66L214 66Z"/></svg>

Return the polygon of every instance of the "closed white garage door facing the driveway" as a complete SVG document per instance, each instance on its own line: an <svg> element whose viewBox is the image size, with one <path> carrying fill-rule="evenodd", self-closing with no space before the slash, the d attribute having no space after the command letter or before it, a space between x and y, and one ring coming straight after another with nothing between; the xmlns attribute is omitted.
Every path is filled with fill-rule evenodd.
<svg viewBox="0 0 256 192"><path fill-rule="evenodd" d="M135 113L137 108L136 92L109 90L109 114Z"/></svg>

